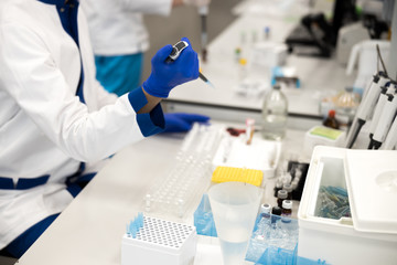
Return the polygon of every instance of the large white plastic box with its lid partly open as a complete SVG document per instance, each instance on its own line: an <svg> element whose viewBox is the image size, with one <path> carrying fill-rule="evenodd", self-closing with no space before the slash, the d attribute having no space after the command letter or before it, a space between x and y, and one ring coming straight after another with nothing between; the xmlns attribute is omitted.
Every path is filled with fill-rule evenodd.
<svg viewBox="0 0 397 265"><path fill-rule="evenodd" d="M347 188L352 218L316 216L321 186ZM298 211L298 255L328 264L397 264L397 152L315 147Z"/></svg>

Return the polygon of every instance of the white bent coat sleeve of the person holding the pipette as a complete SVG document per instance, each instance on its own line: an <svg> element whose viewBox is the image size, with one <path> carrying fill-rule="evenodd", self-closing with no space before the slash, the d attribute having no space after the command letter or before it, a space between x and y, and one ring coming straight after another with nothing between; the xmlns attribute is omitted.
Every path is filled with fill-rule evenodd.
<svg viewBox="0 0 397 265"><path fill-rule="evenodd" d="M1 25L0 76L1 86L43 134L66 155L88 162L104 159L142 139L144 135L139 127L142 121L138 120L140 115L133 110L128 95L112 105L89 112L75 96L76 88L67 84L54 63L52 56L56 54L49 51L36 30L13 23ZM162 115L161 109L159 115ZM143 115L140 119L147 127L163 127L163 120L155 125L150 124L150 118Z"/></svg>

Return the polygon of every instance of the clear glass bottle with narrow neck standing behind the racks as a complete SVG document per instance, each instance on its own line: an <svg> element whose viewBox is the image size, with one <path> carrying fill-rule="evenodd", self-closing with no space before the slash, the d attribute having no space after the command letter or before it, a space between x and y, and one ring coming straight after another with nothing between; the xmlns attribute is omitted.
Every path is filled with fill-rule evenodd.
<svg viewBox="0 0 397 265"><path fill-rule="evenodd" d="M262 107L261 134L268 140L281 140L286 136L288 102L279 85L266 94Z"/></svg>

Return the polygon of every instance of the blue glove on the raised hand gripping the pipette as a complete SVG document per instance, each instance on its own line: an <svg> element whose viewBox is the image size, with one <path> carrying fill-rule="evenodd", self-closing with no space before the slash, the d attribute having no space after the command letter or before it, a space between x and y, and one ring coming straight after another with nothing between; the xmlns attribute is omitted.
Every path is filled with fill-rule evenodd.
<svg viewBox="0 0 397 265"><path fill-rule="evenodd" d="M155 97L168 97L173 87L198 77L197 53L192 49L187 38L181 40L187 42L189 46L175 61L165 62L172 51L172 45L163 46L152 57L152 72L143 82L143 89L148 94Z"/></svg>

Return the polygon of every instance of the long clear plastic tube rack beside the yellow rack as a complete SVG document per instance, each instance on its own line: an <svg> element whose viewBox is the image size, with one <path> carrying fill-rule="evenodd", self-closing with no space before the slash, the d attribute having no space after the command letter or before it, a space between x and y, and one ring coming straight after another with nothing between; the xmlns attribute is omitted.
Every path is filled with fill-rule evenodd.
<svg viewBox="0 0 397 265"><path fill-rule="evenodd" d="M169 173L157 178L146 193L143 211L183 219L211 183L212 160L225 134L224 125L194 124Z"/></svg>

